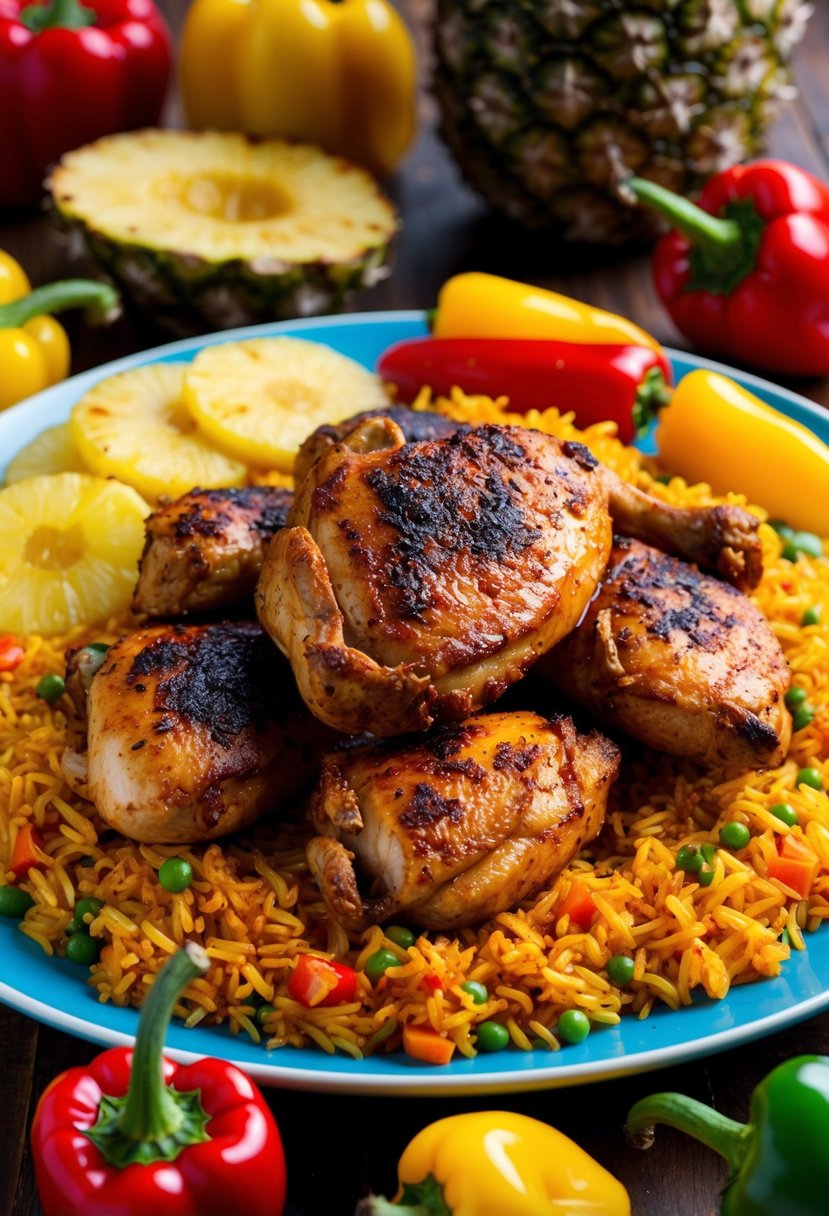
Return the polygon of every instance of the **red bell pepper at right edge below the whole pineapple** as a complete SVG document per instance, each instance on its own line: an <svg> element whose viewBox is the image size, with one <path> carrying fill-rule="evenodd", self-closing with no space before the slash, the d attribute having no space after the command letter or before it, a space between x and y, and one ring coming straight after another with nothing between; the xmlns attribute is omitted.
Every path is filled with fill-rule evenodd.
<svg viewBox="0 0 829 1216"><path fill-rule="evenodd" d="M782 161L711 178L697 207L627 182L676 231L654 250L656 292L700 350L795 376L829 372L829 188Z"/></svg>

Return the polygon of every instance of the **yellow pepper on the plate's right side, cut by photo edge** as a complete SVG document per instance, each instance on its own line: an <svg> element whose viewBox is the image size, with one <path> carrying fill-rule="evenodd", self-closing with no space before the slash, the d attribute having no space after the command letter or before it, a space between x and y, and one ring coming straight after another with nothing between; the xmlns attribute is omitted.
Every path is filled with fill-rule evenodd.
<svg viewBox="0 0 829 1216"><path fill-rule="evenodd" d="M684 376L655 440L666 472L744 494L773 519L829 536L829 446L728 376Z"/></svg>

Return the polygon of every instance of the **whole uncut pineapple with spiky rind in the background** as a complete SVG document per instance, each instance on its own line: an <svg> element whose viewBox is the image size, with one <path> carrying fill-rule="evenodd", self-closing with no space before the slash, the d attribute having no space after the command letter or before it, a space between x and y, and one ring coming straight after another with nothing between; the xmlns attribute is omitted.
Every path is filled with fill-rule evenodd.
<svg viewBox="0 0 829 1216"><path fill-rule="evenodd" d="M620 242L654 220L620 190L694 195L756 154L805 0L436 0L441 131L469 182L529 227Z"/></svg>

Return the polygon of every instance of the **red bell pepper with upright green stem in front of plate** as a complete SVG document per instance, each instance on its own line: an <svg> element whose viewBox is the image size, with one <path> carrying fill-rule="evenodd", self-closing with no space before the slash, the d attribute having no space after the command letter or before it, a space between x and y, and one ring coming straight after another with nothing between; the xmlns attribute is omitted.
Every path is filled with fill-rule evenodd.
<svg viewBox="0 0 829 1216"><path fill-rule="evenodd" d="M280 1216L286 1164L261 1092L235 1065L162 1057L173 1007L208 970L188 942L159 973L134 1048L114 1047L43 1093L32 1125L45 1216Z"/></svg>

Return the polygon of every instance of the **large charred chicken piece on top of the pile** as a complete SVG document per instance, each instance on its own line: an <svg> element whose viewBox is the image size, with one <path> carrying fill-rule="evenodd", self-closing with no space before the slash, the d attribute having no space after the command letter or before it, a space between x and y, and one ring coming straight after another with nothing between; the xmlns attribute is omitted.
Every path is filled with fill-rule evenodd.
<svg viewBox="0 0 829 1216"><path fill-rule="evenodd" d="M665 530L665 508L580 444L484 426L405 445L390 420L363 422L303 482L256 612L308 706L337 730L390 736L464 717L577 624L610 552L611 497L637 527ZM738 507L692 517L679 522L715 564L738 530L728 519L757 544Z"/></svg>

